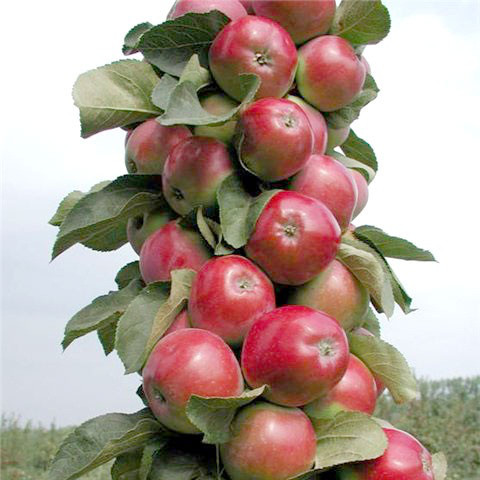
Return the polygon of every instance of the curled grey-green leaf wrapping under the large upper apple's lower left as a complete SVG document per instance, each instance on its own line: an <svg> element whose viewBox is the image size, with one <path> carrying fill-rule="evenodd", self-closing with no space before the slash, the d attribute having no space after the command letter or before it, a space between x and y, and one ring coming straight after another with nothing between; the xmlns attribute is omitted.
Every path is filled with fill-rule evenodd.
<svg viewBox="0 0 480 480"><path fill-rule="evenodd" d="M162 125L222 125L233 118L242 108L250 103L260 87L257 75L242 74L241 85L245 91L243 102L227 113L214 115L201 105L197 87L191 81L181 82L170 95L165 113L158 121Z"/></svg>

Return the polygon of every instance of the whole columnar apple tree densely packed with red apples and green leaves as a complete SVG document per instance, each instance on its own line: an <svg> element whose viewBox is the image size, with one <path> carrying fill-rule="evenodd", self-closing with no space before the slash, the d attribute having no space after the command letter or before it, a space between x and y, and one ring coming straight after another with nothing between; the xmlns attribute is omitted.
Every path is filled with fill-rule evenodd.
<svg viewBox="0 0 480 480"><path fill-rule="evenodd" d="M126 35L139 58L80 75L81 135L124 129L126 174L62 200L53 258L139 258L63 347L96 332L145 408L78 427L52 480L112 460L114 480L445 478L373 416L417 395L381 339L412 303L388 259L434 260L352 224L378 168L352 129L379 93L364 50L389 29L380 0L177 0Z"/></svg>

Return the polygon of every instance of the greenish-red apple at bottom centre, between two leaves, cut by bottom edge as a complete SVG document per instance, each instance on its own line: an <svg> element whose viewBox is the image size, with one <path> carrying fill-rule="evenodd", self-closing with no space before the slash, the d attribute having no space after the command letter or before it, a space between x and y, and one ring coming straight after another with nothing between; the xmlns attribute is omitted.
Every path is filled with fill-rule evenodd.
<svg viewBox="0 0 480 480"><path fill-rule="evenodd" d="M255 403L232 424L232 439L220 445L232 480L287 480L310 470L316 437L308 417L297 408Z"/></svg>

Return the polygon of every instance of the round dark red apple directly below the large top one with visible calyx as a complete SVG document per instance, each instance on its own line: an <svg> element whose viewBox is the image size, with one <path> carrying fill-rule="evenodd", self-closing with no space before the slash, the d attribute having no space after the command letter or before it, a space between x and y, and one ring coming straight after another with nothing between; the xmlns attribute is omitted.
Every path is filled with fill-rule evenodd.
<svg viewBox="0 0 480 480"><path fill-rule="evenodd" d="M266 182L291 177L313 151L313 132L303 110L284 98L263 98L248 106L237 125L242 165Z"/></svg>

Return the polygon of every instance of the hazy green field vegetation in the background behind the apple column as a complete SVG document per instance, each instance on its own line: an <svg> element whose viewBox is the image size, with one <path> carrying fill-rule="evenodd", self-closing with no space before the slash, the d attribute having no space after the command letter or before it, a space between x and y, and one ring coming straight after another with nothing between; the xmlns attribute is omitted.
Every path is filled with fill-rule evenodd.
<svg viewBox="0 0 480 480"><path fill-rule="evenodd" d="M376 415L417 436L432 452L449 460L450 480L480 480L480 377L419 382L421 399L395 405L380 399ZM47 480L47 468L61 440L72 428L26 425L15 416L2 416L1 478ZM109 465L86 479L108 480Z"/></svg>

